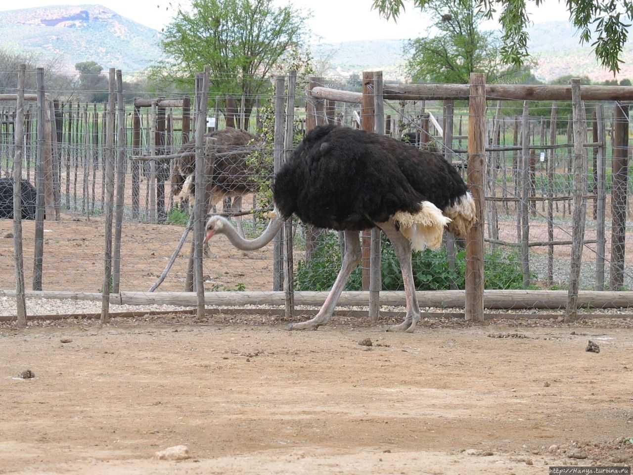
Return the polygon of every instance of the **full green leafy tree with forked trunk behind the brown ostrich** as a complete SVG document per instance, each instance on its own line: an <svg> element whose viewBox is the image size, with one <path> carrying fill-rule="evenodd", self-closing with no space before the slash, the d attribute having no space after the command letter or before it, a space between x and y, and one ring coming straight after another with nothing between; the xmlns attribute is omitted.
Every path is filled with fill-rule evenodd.
<svg viewBox="0 0 633 475"><path fill-rule="evenodd" d="M258 94L270 88L273 68L301 44L306 19L270 0L193 0L191 9L179 8L165 28L161 44L171 60L158 71L191 87L195 73L208 66L211 94L225 98L220 107L227 125L238 122L235 98L243 96L246 122L237 125L247 129Z"/></svg>

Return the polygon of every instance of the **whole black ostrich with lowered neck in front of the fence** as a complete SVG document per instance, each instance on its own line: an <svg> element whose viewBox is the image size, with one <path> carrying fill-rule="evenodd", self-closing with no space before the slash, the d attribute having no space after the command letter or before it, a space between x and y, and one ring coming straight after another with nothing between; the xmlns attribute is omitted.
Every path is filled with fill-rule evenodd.
<svg viewBox="0 0 633 475"><path fill-rule="evenodd" d="M270 243L286 219L344 232L342 267L318 314L288 329L327 324L349 275L361 260L358 231L375 226L392 245L404 281L406 317L388 331L412 332L420 319L411 248L437 248L444 227L465 237L475 202L457 170L442 156L363 130L325 125L311 130L275 176L274 216L263 234L244 239L229 221L212 216L204 241L222 233L241 250Z"/></svg>

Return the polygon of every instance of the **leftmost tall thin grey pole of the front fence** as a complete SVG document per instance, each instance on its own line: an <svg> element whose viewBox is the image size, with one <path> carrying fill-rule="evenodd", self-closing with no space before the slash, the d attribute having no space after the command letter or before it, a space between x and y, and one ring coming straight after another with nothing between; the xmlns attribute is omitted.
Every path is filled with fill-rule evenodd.
<svg viewBox="0 0 633 475"><path fill-rule="evenodd" d="M27 66L18 67L18 96L15 112L15 158L13 160L13 248L15 250L15 300L18 326L27 326L27 298L22 247L22 161L24 160L24 90Z"/></svg>

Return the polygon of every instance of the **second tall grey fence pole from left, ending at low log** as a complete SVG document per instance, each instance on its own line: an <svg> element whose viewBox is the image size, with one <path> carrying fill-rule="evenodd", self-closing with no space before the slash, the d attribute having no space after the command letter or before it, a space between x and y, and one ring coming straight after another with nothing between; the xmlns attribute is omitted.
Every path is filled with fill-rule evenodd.
<svg viewBox="0 0 633 475"><path fill-rule="evenodd" d="M42 290L42 263L44 260L44 148L46 134L44 126L44 68L37 68L37 162L35 163L35 189L37 201L35 205L35 250L33 258L33 290Z"/></svg>

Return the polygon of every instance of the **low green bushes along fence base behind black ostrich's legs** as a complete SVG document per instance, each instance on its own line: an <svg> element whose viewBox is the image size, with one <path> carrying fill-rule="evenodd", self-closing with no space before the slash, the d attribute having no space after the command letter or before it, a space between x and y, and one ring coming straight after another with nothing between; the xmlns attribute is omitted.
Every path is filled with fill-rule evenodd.
<svg viewBox="0 0 633 475"><path fill-rule="evenodd" d="M522 289L523 274L517 253L492 251L484 256L484 286L486 289ZM446 248L414 252L411 257L413 281L418 290L448 290L465 288L466 251L456 253L455 267L449 268ZM382 236L382 289L404 290L398 259L386 236ZM329 290L341 269L341 248L337 235L324 233L311 262L299 260L294 281L297 290ZM351 274L346 290L362 288L362 269Z"/></svg>

